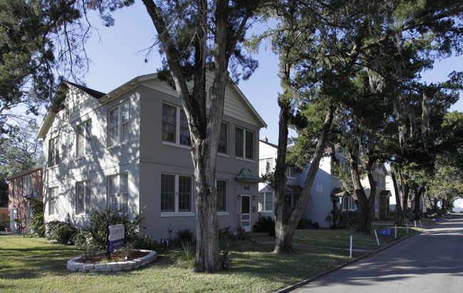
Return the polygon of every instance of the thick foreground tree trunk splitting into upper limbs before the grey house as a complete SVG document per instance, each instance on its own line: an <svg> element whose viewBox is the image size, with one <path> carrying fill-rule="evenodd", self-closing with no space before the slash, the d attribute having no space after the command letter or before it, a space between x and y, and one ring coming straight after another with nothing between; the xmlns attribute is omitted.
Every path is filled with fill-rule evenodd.
<svg viewBox="0 0 463 293"><path fill-rule="evenodd" d="M214 14L214 31L210 31L207 0L194 1L197 9L197 28L194 29L191 47L194 53L192 72L185 70L181 63L184 52L177 48L176 35L170 31L170 24L160 7L152 0L143 0L147 12L155 25L162 50L167 58L170 75L187 116L192 138L192 161L196 197L196 236L197 249L194 270L214 272L219 260L219 228L217 222L217 190L215 189L215 170L219 133L224 113L225 88L229 81L228 63L234 53L236 43L241 40L246 29L246 21L254 13L255 7L247 7L243 12L241 24L234 36L229 37L229 1L217 1ZM213 34L213 36L211 36ZM209 40L214 40L214 81L212 83L212 102L206 109L206 61L209 58ZM187 86L192 78L193 88ZM208 117L208 115L209 117Z"/></svg>

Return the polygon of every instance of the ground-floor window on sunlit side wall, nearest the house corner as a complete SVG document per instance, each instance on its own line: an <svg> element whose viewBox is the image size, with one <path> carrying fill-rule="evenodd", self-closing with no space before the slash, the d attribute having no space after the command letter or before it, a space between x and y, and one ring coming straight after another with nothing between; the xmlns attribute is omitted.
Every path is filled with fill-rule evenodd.
<svg viewBox="0 0 463 293"><path fill-rule="evenodd" d="M128 211L128 174L113 175L109 180L109 209L111 211Z"/></svg>

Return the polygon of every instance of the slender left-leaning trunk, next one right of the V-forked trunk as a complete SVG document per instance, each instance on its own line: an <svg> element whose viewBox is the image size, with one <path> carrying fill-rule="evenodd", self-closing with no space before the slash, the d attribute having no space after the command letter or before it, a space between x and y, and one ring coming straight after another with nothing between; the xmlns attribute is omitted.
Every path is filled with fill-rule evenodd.
<svg viewBox="0 0 463 293"><path fill-rule="evenodd" d="M355 197L357 197L358 208L358 228L357 231L363 234L370 234L371 230L371 210L370 202L362 183L360 183L360 173L358 172L358 155L352 148L348 148L350 154L350 175L354 185ZM374 182L374 181L373 181ZM370 195L371 196L371 195Z"/></svg>

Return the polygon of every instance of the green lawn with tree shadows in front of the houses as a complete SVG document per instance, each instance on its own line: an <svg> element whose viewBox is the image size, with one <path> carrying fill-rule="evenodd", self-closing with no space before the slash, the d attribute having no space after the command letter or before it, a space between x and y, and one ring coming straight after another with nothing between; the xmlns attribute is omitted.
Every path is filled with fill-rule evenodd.
<svg viewBox="0 0 463 293"><path fill-rule="evenodd" d="M387 224L385 224L387 225ZM375 226L375 229L379 228ZM419 228L418 228L419 229ZM399 237L405 228L397 228ZM412 230L409 229L411 233ZM172 264L179 252L159 251L156 262L130 272L68 272L68 259L81 255L76 247L51 244L21 235L0 236L0 291L2 292L275 292L350 260L354 248L378 249L375 235L353 230L297 230L295 252L271 253L273 245L246 243L231 247L232 263L216 274L194 273ZM378 235L380 236L380 235ZM380 237L382 246L393 236ZM342 248L343 250L336 249ZM353 252L360 257L368 252Z"/></svg>

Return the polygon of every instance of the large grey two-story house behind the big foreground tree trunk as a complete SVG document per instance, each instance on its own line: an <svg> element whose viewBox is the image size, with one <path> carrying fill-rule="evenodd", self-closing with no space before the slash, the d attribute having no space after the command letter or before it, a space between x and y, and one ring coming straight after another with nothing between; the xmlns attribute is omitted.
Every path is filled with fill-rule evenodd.
<svg viewBox="0 0 463 293"><path fill-rule="evenodd" d="M207 83L212 85L212 81ZM38 137L44 168L45 220L90 224L90 209L140 212L145 235L196 222L194 170L180 98L157 74L110 93L63 82L63 109L48 110ZM209 103L208 103L209 108ZM219 226L251 230L257 220L259 130L266 127L239 88L228 83L216 185Z"/></svg>

